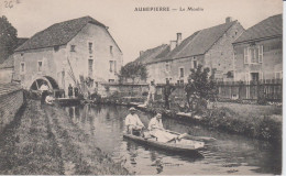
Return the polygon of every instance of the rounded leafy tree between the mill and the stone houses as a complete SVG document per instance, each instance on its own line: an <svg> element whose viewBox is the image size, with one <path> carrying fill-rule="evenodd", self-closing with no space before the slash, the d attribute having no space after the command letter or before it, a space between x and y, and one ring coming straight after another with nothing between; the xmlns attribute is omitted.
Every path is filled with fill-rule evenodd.
<svg viewBox="0 0 286 176"><path fill-rule="evenodd" d="M135 82L135 78L139 78L141 80L146 80L147 79L146 66L138 62L128 63L120 70L120 78L121 81L122 79L131 78L133 84Z"/></svg>

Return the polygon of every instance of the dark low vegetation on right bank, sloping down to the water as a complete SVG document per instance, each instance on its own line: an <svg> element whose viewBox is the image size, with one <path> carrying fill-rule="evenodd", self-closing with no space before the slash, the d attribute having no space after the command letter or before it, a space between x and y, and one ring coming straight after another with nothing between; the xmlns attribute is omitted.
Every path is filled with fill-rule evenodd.
<svg viewBox="0 0 286 176"><path fill-rule="evenodd" d="M202 123L231 133L267 141L282 141L282 123L266 116L243 119L229 108L218 108L208 110L207 116L202 118Z"/></svg>

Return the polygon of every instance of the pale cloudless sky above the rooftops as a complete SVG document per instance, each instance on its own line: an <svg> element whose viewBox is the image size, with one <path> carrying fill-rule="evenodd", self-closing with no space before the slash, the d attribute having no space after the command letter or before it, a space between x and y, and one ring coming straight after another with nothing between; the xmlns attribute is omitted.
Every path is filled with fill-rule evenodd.
<svg viewBox="0 0 286 176"><path fill-rule="evenodd" d="M124 63L134 61L140 51L169 44L177 32L184 40L198 30L224 23L227 16L249 29L283 12L282 0L11 0L12 8L6 8L4 2L0 0L0 15L8 18L19 37L31 37L54 23L90 15L109 26ZM169 7L170 11L135 12L140 7ZM172 11L180 7L204 11Z"/></svg>

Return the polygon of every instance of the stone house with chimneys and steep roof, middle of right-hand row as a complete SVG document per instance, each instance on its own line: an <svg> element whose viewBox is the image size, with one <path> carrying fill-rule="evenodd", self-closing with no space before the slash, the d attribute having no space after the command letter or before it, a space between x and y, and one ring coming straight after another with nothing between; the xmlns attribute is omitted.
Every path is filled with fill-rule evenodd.
<svg viewBox="0 0 286 176"><path fill-rule="evenodd" d="M215 77L219 80L232 78L232 43L243 31L243 26L237 20L227 18L223 24L197 31L184 41L178 33L177 40L170 41L167 54L158 54L145 63L148 81L164 84L169 79L173 84L186 82L190 69L199 64L215 72Z"/></svg>

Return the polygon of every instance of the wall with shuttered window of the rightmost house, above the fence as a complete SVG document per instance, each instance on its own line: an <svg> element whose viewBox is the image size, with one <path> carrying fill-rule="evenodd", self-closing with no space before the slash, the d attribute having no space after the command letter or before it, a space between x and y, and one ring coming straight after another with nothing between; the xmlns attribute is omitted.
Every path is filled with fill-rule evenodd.
<svg viewBox="0 0 286 176"><path fill-rule="evenodd" d="M282 37L234 44L234 79L279 79L283 76Z"/></svg>

